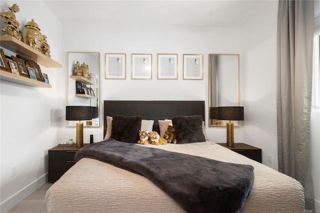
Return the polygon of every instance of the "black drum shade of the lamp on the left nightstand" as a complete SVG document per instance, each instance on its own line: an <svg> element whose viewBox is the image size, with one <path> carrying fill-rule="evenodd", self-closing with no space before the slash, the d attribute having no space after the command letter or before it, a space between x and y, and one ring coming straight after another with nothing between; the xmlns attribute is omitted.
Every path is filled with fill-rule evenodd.
<svg viewBox="0 0 320 213"><path fill-rule="evenodd" d="M66 120L92 119L92 106L65 106Z"/></svg>

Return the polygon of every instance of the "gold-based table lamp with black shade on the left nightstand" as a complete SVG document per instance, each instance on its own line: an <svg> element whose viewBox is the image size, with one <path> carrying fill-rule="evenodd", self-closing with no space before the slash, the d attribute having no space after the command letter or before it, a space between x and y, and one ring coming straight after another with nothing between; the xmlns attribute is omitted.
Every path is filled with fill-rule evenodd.
<svg viewBox="0 0 320 213"><path fill-rule="evenodd" d="M82 147L83 145L83 123L81 120L92 118L92 106L65 106L65 119L78 120L75 125L75 145Z"/></svg>

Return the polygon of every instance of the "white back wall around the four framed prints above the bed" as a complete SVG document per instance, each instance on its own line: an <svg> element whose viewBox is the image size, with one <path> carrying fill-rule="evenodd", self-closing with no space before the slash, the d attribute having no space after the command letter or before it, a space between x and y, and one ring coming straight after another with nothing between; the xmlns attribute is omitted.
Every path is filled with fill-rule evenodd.
<svg viewBox="0 0 320 213"><path fill-rule="evenodd" d="M100 106L103 105L103 100L107 99L207 100L208 53L240 52L237 27L192 28L168 25L145 27L109 25L103 21L94 24L63 21L62 28L62 51L65 58L67 51L100 52ZM116 52L126 53L126 79L104 79L104 53ZM152 53L151 80L131 79L131 53ZM157 53L178 53L177 80L157 79ZM182 80L183 53L203 54L203 80ZM63 61L66 62L64 59ZM63 67L66 65L63 64ZM63 124L65 125L61 123ZM61 132L61 139L74 137L74 131L74 128L65 127ZM84 140L88 141L89 134L94 134L95 141L101 140L102 131L102 121L100 128L84 128ZM221 128L210 128L207 132L212 140L225 140L225 132Z"/></svg>

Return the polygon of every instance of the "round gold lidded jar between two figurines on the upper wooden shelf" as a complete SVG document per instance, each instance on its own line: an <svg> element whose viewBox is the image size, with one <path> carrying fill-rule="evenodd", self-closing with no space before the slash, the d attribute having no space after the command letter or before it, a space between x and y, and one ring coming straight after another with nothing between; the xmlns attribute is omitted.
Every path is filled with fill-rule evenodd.
<svg viewBox="0 0 320 213"><path fill-rule="evenodd" d="M24 27L25 29L22 32L23 42L32 48L41 51L43 36L38 24L31 19L31 21L28 21Z"/></svg>

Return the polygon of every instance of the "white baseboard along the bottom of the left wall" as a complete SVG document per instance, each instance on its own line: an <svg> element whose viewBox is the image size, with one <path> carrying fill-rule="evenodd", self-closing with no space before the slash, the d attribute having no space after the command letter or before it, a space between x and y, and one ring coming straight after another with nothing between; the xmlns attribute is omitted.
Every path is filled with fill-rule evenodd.
<svg viewBox="0 0 320 213"><path fill-rule="evenodd" d="M38 189L41 185L46 183L46 180L47 180L47 173L41 176L40 178L38 178L37 180L35 180L34 182L32 182L31 184L29 184L28 186L26 186L25 188L23 188L22 190L20 190L19 192L17 192L16 194L14 194L13 196L11 196L10 198L8 198L7 200L3 201L0 204L0 212L9 211L16 204L21 202L25 197L27 197L33 191Z"/></svg>

